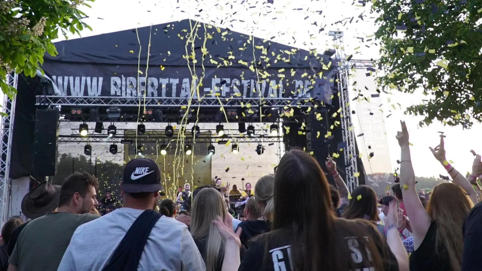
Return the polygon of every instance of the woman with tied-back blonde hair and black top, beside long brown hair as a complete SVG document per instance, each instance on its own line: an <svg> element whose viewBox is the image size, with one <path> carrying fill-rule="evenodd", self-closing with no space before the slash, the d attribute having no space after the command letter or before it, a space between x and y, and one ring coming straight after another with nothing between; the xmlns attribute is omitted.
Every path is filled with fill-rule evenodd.
<svg viewBox="0 0 482 271"><path fill-rule="evenodd" d="M238 227L241 231L241 244L248 246L248 241L256 235L269 231L273 212L273 186L274 176L266 175L261 177L254 188L256 210L259 217L255 220L242 221Z"/></svg>

